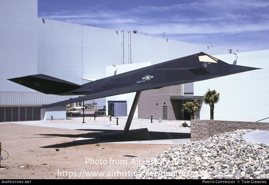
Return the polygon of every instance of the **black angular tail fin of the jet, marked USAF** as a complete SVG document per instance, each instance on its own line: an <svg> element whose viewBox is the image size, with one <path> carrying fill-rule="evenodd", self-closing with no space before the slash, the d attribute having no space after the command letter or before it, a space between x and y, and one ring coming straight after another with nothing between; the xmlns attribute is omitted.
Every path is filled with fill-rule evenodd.
<svg viewBox="0 0 269 185"><path fill-rule="evenodd" d="M82 86L44 74L8 79L44 94L63 94Z"/></svg>

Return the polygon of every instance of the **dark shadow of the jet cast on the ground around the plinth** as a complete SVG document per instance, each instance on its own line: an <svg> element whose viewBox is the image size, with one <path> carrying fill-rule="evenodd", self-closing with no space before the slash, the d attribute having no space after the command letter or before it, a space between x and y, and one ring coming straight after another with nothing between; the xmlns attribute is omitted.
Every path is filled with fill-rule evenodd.
<svg viewBox="0 0 269 185"><path fill-rule="evenodd" d="M125 141L139 141L139 140L125 140L125 139L100 139L100 135L112 131L119 130L104 130L104 129L78 129L85 131L92 131L87 134L38 134L42 136L54 136L54 137L70 137L70 138L81 138L81 140L75 140L68 143L60 143L55 145L44 146L41 148L65 148L77 145L85 144L97 144L97 143L112 143L112 142L125 142ZM175 132L155 132L149 131L152 140L168 140L168 139L188 139L190 133L175 133Z"/></svg>

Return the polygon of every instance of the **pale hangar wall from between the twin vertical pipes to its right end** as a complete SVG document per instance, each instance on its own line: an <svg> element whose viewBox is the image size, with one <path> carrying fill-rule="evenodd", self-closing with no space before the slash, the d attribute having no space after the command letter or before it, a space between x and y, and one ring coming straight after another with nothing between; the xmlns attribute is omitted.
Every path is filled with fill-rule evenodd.
<svg viewBox="0 0 269 185"><path fill-rule="evenodd" d="M131 33L131 47L133 63L167 61L192 55L199 52L205 52L209 55L227 54L227 49L211 47L204 45L191 44L187 42L166 40L166 38L156 38L146 35ZM126 35L126 37L125 37ZM124 35L124 61L128 61L128 34Z"/></svg>

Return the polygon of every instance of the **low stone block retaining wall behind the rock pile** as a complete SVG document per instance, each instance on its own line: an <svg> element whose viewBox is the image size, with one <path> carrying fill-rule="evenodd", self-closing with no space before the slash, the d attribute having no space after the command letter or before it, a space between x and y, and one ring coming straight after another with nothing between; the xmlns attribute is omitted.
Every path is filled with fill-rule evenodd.
<svg viewBox="0 0 269 185"><path fill-rule="evenodd" d="M220 120L190 121L191 141L199 141L215 134L235 131L237 129L269 130L269 123Z"/></svg>

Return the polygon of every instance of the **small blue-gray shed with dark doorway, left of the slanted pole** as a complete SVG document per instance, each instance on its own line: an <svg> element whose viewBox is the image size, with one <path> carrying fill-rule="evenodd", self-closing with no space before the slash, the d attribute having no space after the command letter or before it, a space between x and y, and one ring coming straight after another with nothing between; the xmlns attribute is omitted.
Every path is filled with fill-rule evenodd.
<svg viewBox="0 0 269 185"><path fill-rule="evenodd" d="M121 117L127 116L127 101L107 101L108 103L108 115Z"/></svg>

